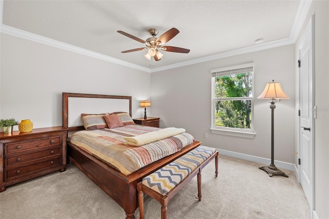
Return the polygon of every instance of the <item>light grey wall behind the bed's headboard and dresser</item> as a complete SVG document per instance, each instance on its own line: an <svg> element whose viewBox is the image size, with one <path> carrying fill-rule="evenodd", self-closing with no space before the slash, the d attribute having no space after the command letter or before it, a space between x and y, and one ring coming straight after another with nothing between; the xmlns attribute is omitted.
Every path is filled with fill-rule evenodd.
<svg viewBox="0 0 329 219"><path fill-rule="evenodd" d="M33 128L62 125L62 92L132 96L133 117L150 99L148 72L5 33L0 70L0 118L30 119Z"/></svg>

